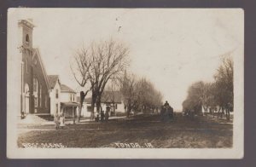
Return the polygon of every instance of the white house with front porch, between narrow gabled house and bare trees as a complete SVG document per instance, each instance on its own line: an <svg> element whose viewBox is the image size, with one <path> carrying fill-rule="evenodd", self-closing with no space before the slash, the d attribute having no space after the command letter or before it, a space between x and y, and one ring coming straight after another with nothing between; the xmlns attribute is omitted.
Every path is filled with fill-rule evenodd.
<svg viewBox="0 0 256 167"><path fill-rule="evenodd" d="M66 117L76 117L79 103L76 92L65 84L61 84L61 112Z"/></svg>

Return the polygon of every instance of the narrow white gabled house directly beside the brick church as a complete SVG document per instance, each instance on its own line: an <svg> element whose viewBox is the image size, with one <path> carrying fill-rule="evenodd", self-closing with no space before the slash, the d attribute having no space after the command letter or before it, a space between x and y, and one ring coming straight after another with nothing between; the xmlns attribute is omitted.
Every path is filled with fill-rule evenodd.
<svg viewBox="0 0 256 167"><path fill-rule="evenodd" d="M58 75L49 75L49 99L50 114L61 112L61 82Z"/></svg>

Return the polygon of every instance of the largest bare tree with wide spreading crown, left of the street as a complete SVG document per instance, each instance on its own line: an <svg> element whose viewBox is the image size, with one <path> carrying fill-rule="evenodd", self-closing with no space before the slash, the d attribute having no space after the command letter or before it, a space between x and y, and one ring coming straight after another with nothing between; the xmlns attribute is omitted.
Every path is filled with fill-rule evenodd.
<svg viewBox="0 0 256 167"><path fill-rule="evenodd" d="M95 105L97 112L101 110L102 93L108 81L119 78L128 66L128 55L129 49L125 44L113 39L90 43L88 47L78 50L75 60L79 74L73 72L73 75L79 75L79 78L75 78L81 86L90 82L91 119L94 118Z"/></svg>

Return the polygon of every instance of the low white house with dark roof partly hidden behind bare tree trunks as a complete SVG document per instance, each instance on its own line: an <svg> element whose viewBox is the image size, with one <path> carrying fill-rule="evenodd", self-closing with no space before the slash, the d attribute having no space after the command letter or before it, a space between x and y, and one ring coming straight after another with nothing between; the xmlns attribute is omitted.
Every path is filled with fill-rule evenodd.
<svg viewBox="0 0 256 167"><path fill-rule="evenodd" d="M77 98L77 101L80 102L80 97ZM102 94L102 110L106 111L107 107L110 107L112 114L116 112L125 112L125 105L122 101L122 95L120 91L104 91ZM96 112L96 107L94 109ZM90 117L91 112L91 97L85 98L81 115L84 117Z"/></svg>

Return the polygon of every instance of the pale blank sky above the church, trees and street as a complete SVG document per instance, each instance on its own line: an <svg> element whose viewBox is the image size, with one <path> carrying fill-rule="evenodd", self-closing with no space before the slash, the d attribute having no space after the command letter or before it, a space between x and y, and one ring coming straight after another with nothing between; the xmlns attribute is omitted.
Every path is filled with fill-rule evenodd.
<svg viewBox="0 0 256 167"><path fill-rule="evenodd" d="M47 73L77 91L74 50L110 37L123 41L131 72L154 83L174 109L182 109L191 83L213 80L220 55L243 45L241 9L17 9L10 18L33 20L33 47Z"/></svg>

